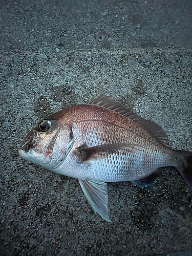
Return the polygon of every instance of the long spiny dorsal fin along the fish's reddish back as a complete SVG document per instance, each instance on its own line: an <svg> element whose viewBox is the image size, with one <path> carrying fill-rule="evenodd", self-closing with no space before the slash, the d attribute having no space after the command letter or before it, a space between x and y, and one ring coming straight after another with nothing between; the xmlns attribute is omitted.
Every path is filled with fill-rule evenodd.
<svg viewBox="0 0 192 256"><path fill-rule="evenodd" d="M94 96L87 104L103 106L106 109L113 110L118 114L128 117L129 119L141 125L148 133L158 139L161 144L168 146L167 135L161 126L153 121L145 120L120 103L116 103L115 100L111 98L111 96L106 96L104 94L101 94L99 97Z"/></svg>

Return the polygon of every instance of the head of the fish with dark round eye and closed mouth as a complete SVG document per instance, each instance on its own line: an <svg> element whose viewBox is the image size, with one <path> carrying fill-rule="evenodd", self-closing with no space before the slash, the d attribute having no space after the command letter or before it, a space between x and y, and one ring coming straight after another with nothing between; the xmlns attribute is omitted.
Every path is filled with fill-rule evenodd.
<svg viewBox="0 0 192 256"><path fill-rule="evenodd" d="M74 138L69 123L54 114L41 119L18 147L19 155L34 164L54 169L70 152Z"/></svg>

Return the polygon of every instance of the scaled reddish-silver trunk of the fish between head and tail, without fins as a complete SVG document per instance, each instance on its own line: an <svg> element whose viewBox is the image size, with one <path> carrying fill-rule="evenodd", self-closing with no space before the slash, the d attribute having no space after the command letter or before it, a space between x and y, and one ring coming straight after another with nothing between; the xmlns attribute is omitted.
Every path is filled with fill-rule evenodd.
<svg viewBox="0 0 192 256"><path fill-rule="evenodd" d="M97 105L77 105L67 110L60 126L72 130L74 144L65 161L52 169L56 173L84 180L132 181L150 175L154 168L173 165L170 150L131 119ZM123 143L127 146L121 148ZM80 146L113 144L119 144L119 150L112 154L109 148L98 152L99 156L89 156L86 161L81 160L76 150Z"/></svg>

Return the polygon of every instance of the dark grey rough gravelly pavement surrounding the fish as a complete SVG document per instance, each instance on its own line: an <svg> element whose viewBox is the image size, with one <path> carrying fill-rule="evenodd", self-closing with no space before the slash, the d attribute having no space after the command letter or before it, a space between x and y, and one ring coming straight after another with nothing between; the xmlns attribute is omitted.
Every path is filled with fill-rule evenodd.
<svg viewBox="0 0 192 256"><path fill-rule="evenodd" d="M192 151L192 2L0 3L0 254L192 255L192 193L174 168L145 189L110 183L106 223L77 180L16 147L41 117L105 93Z"/></svg>

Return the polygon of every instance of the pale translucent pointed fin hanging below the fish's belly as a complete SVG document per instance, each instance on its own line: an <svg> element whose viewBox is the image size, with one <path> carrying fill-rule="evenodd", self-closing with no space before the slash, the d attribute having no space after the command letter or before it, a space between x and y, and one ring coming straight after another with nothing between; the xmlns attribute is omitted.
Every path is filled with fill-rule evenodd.
<svg viewBox="0 0 192 256"><path fill-rule="evenodd" d="M84 195L95 212L105 221L108 215L108 187L102 181L79 180Z"/></svg>

